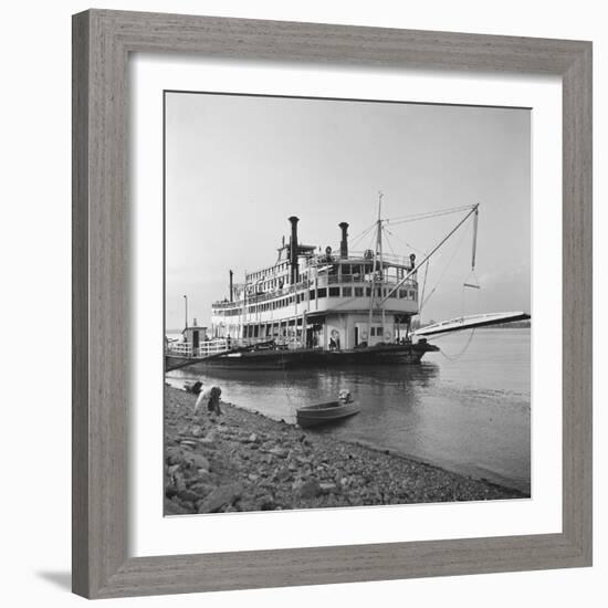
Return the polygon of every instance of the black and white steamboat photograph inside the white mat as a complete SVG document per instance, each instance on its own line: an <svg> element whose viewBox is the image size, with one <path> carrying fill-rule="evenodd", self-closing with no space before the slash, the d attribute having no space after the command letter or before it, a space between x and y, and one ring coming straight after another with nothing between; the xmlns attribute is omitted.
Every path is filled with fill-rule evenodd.
<svg viewBox="0 0 608 608"><path fill-rule="evenodd" d="M166 91L165 515L531 497L531 109Z"/></svg>

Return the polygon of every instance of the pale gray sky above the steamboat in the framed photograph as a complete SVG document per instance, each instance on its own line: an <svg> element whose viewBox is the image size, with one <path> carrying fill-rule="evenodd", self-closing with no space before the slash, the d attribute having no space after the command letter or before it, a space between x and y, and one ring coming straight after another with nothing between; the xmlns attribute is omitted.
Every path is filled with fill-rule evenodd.
<svg viewBox="0 0 608 608"><path fill-rule="evenodd" d="M531 307L531 113L525 108L166 93L166 327L210 325L211 303L300 242L338 248L370 227L382 192L385 251L421 260L480 203L427 274L422 321ZM370 247L369 239L354 249ZM419 276L422 282L423 275ZM481 290L463 289L479 282Z"/></svg>

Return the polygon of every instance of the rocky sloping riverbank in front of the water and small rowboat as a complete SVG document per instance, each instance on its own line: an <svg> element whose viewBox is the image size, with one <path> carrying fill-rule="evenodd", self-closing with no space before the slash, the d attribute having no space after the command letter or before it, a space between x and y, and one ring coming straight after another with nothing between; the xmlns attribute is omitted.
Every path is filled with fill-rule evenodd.
<svg viewBox="0 0 608 608"><path fill-rule="evenodd" d="M195 417L196 397L165 387L165 514L525 497L222 402Z"/></svg>

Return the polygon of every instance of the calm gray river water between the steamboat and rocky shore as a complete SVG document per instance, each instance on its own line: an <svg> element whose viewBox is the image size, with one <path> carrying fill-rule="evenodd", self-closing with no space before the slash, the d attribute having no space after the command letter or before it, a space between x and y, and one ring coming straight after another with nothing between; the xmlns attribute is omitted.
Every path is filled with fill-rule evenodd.
<svg viewBox="0 0 608 608"><path fill-rule="evenodd" d="M347 388L361 412L315 432L530 491L531 332L478 329L457 357L469 337L429 340L443 354L427 354L418 366L284 373L192 367L169 373L167 381L218 384L227 401L287 422L295 422L297 406L335 399Z"/></svg>

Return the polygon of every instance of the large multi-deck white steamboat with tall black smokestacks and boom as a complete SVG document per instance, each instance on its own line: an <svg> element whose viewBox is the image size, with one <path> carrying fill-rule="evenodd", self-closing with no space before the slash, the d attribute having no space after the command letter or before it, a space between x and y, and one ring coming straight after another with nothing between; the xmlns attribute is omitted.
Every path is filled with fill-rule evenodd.
<svg viewBox="0 0 608 608"><path fill-rule="evenodd" d="M289 218L291 238L283 238L274 264L247 273L241 283L229 271L229 296L212 304L211 326L188 327L186 316L185 339L166 344L166 369L192 364L247 369L417 364L426 353L439 350L423 332L412 331L421 306L418 275L469 219L474 222L474 271L479 205L464 208L464 218L420 262L415 253L386 253L387 220L380 209L381 196L378 220L370 227L375 247L360 252L349 251L347 222L338 224L339 250L322 251L301 242L300 220ZM518 312L460 317L437 332L427 327L426 334L522 318L530 317Z"/></svg>

